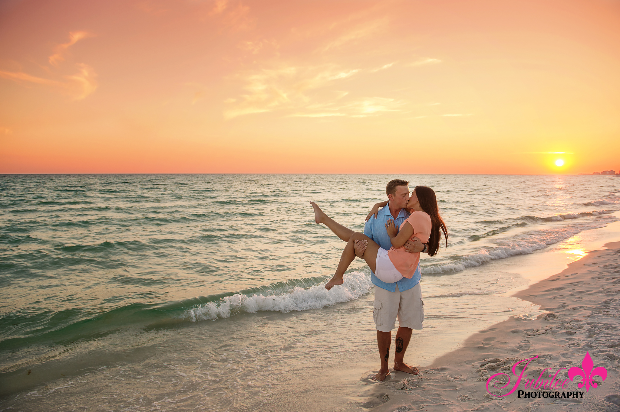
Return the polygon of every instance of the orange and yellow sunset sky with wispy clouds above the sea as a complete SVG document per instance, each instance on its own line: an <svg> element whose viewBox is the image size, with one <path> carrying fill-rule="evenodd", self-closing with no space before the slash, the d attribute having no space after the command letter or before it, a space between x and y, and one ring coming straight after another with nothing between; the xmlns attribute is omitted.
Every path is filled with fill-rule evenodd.
<svg viewBox="0 0 620 412"><path fill-rule="evenodd" d="M619 45L618 0L2 0L0 173L618 171Z"/></svg>

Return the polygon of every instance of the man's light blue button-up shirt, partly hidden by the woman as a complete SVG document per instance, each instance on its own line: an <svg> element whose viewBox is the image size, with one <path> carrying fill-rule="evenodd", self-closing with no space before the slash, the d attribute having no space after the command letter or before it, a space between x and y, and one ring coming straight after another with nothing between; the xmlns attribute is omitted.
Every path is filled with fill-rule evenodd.
<svg viewBox="0 0 620 412"><path fill-rule="evenodd" d="M370 220L366 222L364 225L364 234L369 238L373 239L374 242L378 243L379 246L389 251L389 248L392 247L392 242L389 239L386 231L386 223L388 219L394 219L394 224L396 224L397 228L400 228L402 222L404 222L409 217L409 212L405 210L405 208L401 209L401 212L398 213L398 217L394 219L392 214L389 212L389 204L387 204L384 208L379 210L379 214L375 219L374 216L370 217ZM374 275L373 272L370 272L370 280L374 283L374 285L379 286L379 288L396 292L396 285L398 285L398 290L404 292L405 290L409 290L418 284L420 281L420 264L418 263L417 269L415 269L414 275L410 278L402 278L401 280L394 283L386 283L383 280L379 280L378 277Z"/></svg>

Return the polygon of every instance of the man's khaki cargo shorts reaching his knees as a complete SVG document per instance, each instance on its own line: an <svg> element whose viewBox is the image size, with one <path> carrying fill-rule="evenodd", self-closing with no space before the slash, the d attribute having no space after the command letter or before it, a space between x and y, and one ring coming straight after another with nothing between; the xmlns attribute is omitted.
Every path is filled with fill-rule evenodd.
<svg viewBox="0 0 620 412"><path fill-rule="evenodd" d="M374 325L381 332L391 332L396 318L402 327L422 329L424 302L420 282L409 290L390 292L374 286Z"/></svg>

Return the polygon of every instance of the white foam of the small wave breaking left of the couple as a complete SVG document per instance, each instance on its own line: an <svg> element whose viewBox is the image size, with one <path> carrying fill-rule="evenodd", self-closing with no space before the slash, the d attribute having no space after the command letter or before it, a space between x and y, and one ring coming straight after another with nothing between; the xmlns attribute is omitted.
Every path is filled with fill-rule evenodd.
<svg viewBox="0 0 620 412"><path fill-rule="evenodd" d="M361 272L351 272L344 276L344 283L334 286L332 290L324 288L325 283L314 285L304 289L293 288L291 291L281 294L263 296L262 293L247 296L237 293L226 296L216 302L208 302L197 307L187 309L182 319L192 322L198 320L216 320L230 317L234 312L255 313L258 311L307 311L308 309L321 309L337 303L352 301L364 296L373 286L370 275Z"/></svg>

